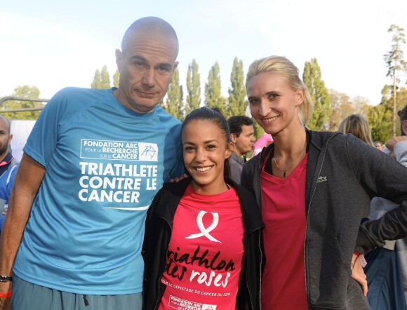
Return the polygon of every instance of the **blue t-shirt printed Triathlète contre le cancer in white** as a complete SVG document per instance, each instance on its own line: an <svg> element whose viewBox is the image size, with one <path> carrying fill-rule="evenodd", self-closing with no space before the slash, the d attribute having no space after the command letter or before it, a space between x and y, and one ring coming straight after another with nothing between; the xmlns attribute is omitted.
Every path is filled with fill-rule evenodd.
<svg viewBox="0 0 407 310"><path fill-rule="evenodd" d="M60 90L23 149L46 173L14 273L65 292L141 292L147 208L185 170L180 128L161 107L133 112L112 89Z"/></svg>

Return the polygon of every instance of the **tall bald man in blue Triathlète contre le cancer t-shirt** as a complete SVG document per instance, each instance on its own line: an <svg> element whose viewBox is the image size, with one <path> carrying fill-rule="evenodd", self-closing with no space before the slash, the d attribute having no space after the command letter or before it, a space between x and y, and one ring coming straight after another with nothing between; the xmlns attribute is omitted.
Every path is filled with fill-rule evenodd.
<svg viewBox="0 0 407 310"><path fill-rule="evenodd" d="M181 123L157 106L177 55L168 22L136 20L116 50L119 88L65 88L41 112L1 235L5 307L13 281L13 309L142 309L145 215L184 172Z"/></svg>

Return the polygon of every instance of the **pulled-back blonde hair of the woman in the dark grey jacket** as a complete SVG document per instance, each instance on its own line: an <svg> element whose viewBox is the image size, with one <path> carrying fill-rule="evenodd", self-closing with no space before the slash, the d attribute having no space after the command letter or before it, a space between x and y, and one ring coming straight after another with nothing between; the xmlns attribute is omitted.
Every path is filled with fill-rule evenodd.
<svg viewBox="0 0 407 310"><path fill-rule="evenodd" d="M248 68L246 75L246 88L248 81L250 81L253 76L262 72L279 74L286 80L286 83L291 89L304 90L304 101L298 106L298 118L302 125L307 125L312 114L314 103L312 102L307 86L305 86L305 83L298 76L299 70L295 67L293 62L281 56L269 56L267 58L255 60Z"/></svg>

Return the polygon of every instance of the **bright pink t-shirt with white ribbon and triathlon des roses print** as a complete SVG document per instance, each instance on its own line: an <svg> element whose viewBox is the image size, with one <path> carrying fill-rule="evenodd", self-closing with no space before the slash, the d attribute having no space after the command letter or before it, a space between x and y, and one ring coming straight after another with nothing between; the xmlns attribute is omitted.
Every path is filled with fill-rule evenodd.
<svg viewBox="0 0 407 310"><path fill-rule="evenodd" d="M187 187L175 212L159 309L236 309L243 232L235 189L202 195Z"/></svg>

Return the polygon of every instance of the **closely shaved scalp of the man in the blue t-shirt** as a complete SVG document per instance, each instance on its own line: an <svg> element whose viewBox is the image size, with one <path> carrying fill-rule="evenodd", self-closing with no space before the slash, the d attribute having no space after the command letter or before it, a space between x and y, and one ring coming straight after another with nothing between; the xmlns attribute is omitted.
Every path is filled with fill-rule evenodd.
<svg viewBox="0 0 407 310"><path fill-rule="evenodd" d="M168 24L165 20L161 18L156 18L154 16L149 16L146 18L140 18L131 24L126 30L126 33L121 40L121 51L126 53L128 48L128 40L131 39L131 34L134 32L144 32L150 34L152 37L157 38L166 37L172 38L176 46L176 55L178 55L178 36L175 33L174 28Z"/></svg>

